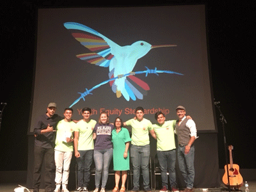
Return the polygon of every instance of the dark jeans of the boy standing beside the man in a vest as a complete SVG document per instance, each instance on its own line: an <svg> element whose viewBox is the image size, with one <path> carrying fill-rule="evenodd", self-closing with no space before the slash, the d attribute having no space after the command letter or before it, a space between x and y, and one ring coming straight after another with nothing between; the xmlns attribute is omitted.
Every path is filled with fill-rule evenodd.
<svg viewBox="0 0 256 192"><path fill-rule="evenodd" d="M176 188L176 173L175 173L175 163L176 163L176 150L161 151L157 150L157 158L159 161L159 166L161 169L162 186L166 186L168 189L168 175L170 179L171 188ZM168 171L167 171L168 170Z"/></svg>

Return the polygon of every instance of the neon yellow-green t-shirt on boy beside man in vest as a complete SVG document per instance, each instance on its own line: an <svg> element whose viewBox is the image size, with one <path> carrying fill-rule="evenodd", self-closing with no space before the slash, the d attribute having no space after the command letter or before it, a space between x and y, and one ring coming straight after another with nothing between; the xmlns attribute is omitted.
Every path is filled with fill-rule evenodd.
<svg viewBox="0 0 256 192"><path fill-rule="evenodd" d="M174 128L176 120L164 122L163 125L154 124L153 129L157 137L157 150L173 150L175 146Z"/></svg>

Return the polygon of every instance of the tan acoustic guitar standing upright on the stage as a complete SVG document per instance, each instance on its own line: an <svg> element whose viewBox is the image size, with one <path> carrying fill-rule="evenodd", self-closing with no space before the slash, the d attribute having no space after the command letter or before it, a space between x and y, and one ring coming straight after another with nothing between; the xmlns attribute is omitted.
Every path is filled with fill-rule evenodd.
<svg viewBox="0 0 256 192"><path fill-rule="evenodd" d="M239 173L238 164L233 164L233 159L232 159L233 146L229 145L228 150L229 150L229 159L230 159L230 164L228 164L229 184L231 188L240 188L241 186L243 186L243 177ZM227 164L225 165L224 168L225 168L225 173L222 177L222 181L225 184L225 186L228 186Z"/></svg>

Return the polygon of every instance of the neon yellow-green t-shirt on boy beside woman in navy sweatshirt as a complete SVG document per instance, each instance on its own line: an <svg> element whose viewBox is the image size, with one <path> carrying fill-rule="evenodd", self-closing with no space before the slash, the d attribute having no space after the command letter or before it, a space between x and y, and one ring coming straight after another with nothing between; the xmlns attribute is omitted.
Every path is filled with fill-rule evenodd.
<svg viewBox="0 0 256 192"><path fill-rule="evenodd" d="M76 124L76 128L74 131L79 132L78 146L77 150L91 150L94 149L93 145L93 129L97 122L93 119L90 122L84 122L84 120L80 120Z"/></svg>

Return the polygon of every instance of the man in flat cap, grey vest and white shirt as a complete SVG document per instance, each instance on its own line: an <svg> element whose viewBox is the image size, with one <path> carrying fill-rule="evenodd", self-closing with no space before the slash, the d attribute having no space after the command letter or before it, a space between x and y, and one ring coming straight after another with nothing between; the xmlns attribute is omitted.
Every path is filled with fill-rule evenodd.
<svg viewBox="0 0 256 192"><path fill-rule="evenodd" d="M175 127L179 141L177 156L180 172L186 183L186 189L182 192L192 192L195 179L195 147L193 143L198 138L196 124L193 120L186 118L186 109L183 106L178 106L176 112L179 117Z"/></svg>

